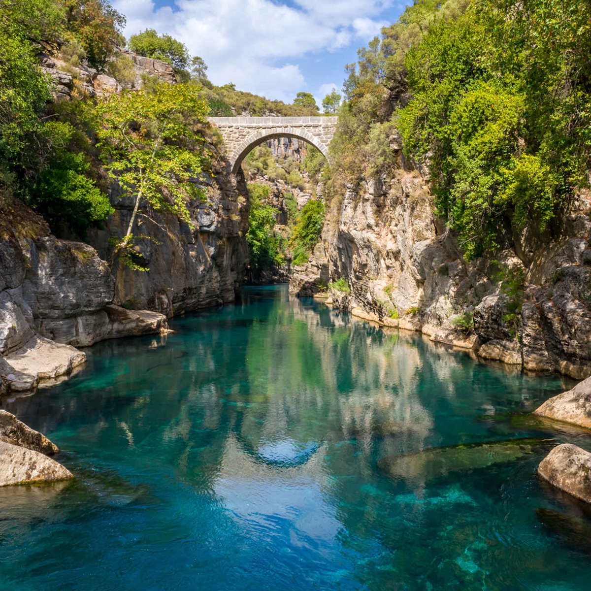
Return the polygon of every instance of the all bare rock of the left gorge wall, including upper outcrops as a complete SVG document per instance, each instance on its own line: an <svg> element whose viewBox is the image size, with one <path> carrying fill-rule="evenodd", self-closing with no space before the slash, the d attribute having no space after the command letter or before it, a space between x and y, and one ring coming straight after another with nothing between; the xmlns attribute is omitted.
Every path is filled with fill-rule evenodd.
<svg viewBox="0 0 591 591"><path fill-rule="evenodd" d="M125 52L142 75L174 82L172 68ZM106 74L41 56L56 101L121 92ZM66 71L67 70L67 71ZM167 330L167 317L235 300L248 264L248 191L242 175L214 152L200 180L206 199L188 204L190 221L147 210L135 249L150 270L112 260L112 239L125 234L133 203L113 183L115 212L85 242L56 238L47 223L10 196L0 202L0 395L34 389L85 362L79 347Z"/></svg>

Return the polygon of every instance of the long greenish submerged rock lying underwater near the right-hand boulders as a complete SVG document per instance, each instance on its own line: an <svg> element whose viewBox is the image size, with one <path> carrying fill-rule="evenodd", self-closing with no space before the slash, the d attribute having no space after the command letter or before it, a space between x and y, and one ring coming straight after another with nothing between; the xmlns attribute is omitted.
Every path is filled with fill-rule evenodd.
<svg viewBox="0 0 591 591"><path fill-rule="evenodd" d="M526 438L431 447L422 452L384 457L378 467L394 478L431 480L450 472L465 472L511 462L532 453L548 439Z"/></svg>

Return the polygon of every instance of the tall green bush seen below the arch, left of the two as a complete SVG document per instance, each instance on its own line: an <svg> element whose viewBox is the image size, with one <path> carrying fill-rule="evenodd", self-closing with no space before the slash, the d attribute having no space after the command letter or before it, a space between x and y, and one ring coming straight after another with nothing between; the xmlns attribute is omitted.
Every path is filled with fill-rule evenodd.
<svg viewBox="0 0 591 591"><path fill-rule="evenodd" d="M261 271L274 265L285 264L284 243L274 232L277 209L268 204L271 189L267 185L249 183L250 210L246 243L250 254L251 267Z"/></svg>

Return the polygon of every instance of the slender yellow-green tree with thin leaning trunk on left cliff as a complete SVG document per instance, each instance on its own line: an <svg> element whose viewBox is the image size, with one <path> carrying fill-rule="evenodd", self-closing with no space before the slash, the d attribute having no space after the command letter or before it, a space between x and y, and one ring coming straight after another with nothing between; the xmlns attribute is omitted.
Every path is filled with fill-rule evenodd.
<svg viewBox="0 0 591 591"><path fill-rule="evenodd" d="M175 213L190 223L190 200L202 199L197 187L209 165L209 152L198 131L207 102L190 85L158 83L153 93L124 92L96 106L99 148L105 168L132 197L134 209L116 244L124 262L134 264L134 226L142 206Z"/></svg>

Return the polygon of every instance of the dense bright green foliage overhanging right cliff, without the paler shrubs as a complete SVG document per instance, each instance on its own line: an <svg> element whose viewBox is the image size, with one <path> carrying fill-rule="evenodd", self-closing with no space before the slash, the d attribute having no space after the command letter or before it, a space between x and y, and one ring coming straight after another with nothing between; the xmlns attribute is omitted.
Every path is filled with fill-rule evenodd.
<svg viewBox="0 0 591 591"><path fill-rule="evenodd" d="M588 182L590 33L589 4L475 0L408 52L405 150L428 155L439 213L469 258L509 228L544 232Z"/></svg>

